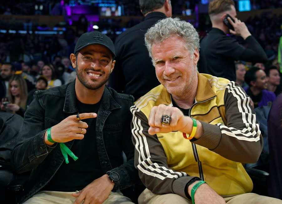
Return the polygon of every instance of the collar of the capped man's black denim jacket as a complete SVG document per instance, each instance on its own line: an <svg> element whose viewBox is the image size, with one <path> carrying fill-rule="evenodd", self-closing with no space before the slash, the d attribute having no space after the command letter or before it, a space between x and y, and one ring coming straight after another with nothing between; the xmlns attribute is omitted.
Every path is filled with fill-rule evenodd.
<svg viewBox="0 0 282 204"><path fill-rule="evenodd" d="M121 106L112 97L112 94L107 87L105 87L104 89L101 100L101 105L105 110L114 110L121 108ZM63 111L70 114L78 112L78 108L76 106L75 80L67 86Z"/></svg>

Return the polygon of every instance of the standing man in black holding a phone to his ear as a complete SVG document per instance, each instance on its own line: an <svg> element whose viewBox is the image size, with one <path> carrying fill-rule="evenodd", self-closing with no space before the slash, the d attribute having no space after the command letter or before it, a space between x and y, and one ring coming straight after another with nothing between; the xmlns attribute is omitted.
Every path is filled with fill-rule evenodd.
<svg viewBox="0 0 282 204"><path fill-rule="evenodd" d="M201 40L199 72L236 81L235 60L266 62L267 56L244 22L236 18L233 0L214 0L208 13L212 29ZM248 48L227 34L241 36Z"/></svg>

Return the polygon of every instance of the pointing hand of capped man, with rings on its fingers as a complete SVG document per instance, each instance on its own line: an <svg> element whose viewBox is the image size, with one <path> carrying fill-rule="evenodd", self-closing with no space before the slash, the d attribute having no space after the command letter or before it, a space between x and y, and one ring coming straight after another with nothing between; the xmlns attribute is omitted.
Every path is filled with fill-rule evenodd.
<svg viewBox="0 0 282 204"><path fill-rule="evenodd" d="M87 118L96 118L96 113L81 113L79 118L81 120ZM71 140L82 140L86 133L88 125L86 122L77 120L76 115L70 115L69 117L62 120L57 125L51 128L51 137L55 142L68 142ZM47 140L47 131L44 135L44 142L46 145L53 145L54 143Z"/></svg>

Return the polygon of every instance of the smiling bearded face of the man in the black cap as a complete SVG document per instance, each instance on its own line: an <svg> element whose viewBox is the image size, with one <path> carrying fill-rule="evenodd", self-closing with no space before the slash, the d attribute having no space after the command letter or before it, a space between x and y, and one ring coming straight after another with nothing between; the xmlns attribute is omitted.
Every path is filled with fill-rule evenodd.
<svg viewBox="0 0 282 204"><path fill-rule="evenodd" d="M88 45L79 51L77 58L71 54L70 59L78 81L91 90L104 88L116 62L112 61L111 51L100 44Z"/></svg>

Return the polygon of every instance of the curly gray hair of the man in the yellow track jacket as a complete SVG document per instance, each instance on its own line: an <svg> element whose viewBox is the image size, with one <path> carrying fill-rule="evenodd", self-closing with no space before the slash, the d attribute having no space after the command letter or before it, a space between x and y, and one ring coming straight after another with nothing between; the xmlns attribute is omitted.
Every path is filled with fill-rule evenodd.
<svg viewBox="0 0 282 204"><path fill-rule="evenodd" d="M165 18L149 28L145 34L145 45L152 58L152 45L161 43L172 35L179 36L185 42L185 48L193 55L194 50L200 50L200 39L198 32L191 23L180 20L180 18ZM154 62L153 62L154 63Z"/></svg>

